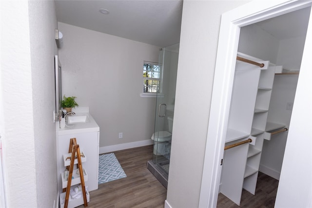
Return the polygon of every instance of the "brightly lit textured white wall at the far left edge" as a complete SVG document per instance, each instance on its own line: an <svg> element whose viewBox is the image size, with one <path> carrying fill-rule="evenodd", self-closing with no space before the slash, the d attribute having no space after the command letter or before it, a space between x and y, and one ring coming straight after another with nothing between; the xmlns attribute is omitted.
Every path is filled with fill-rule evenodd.
<svg viewBox="0 0 312 208"><path fill-rule="evenodd" d="M13 15L16 14L15 11L19 11L18 16ZM27 1L1 2L1 85L3 105L1 125L3 131L1 132L3 132L3 168L7 206L36 207ZM19 124L18 128L17 124Z"/></svg>

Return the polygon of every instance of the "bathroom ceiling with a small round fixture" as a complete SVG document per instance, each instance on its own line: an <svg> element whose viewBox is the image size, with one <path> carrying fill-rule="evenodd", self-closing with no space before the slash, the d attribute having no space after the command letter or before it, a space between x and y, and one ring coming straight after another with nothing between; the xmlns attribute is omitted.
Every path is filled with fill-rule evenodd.
<svg viewBox="0 0 312 208"><path fill-rule="evenodd" d="M182 0L56 0L60 22L166 47L180 40ZM107 9L109 14L102 14Z"/></svg>

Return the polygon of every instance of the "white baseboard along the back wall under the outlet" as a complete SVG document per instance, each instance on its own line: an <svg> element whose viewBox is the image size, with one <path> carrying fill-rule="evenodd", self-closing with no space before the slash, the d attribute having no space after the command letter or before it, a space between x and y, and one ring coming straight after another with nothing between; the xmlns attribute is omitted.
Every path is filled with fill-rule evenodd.
<svg viewBox="0 0 312 208"><path fill-rule="evenodd" d="M106 152L126 150L130 148L142 147L142 146L147 146L147 145L152 145L152 144L153 144L152 139L147 139L147 140L142 140L142 141L137 141L137 142L123 143L123 144L118 144L118 145L100 147L98 153L103 154Z"/></svg>

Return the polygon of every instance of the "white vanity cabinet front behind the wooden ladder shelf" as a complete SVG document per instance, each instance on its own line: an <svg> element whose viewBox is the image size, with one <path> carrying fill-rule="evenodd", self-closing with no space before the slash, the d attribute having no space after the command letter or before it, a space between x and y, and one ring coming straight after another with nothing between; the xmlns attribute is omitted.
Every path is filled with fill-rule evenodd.
<svg viewBox="0 0 312 208"><path fill-rule="evenodd" d="M77 144L79 145L80 151L83 151L87 158L87 161L82 163L82 167L88 174L88 181L85 183L88 187L88 191L98 189L98 132L76 133L59 136L59 181L60 173L64 172L65 170L63 154L68 153L69 142L71 138L77 139ZM61 188L61 186L59 187Z"/></svg>

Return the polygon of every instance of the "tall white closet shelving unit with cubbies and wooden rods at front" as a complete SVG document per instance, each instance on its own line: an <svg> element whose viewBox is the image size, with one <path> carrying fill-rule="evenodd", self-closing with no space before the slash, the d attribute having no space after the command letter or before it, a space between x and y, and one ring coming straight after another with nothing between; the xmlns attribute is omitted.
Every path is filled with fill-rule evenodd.
<svg viewBox="0 0 312 208"><path fill-rule="evenodd" d="M252 142L224 151L220 192L239 205L242 189L255 192L275 67L242 53L237 57L225 145Z"/></svg>

